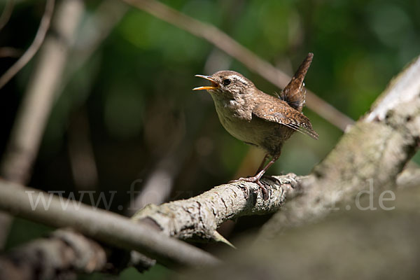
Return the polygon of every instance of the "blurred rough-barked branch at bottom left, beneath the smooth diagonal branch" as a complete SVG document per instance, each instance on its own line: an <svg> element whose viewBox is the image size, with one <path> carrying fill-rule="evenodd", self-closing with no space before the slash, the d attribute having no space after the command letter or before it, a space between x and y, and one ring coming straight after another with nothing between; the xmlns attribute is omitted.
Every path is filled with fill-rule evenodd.
<svg viewBox="0 0 420 280"><path fill-rule="evenodd" d="M97 242L70 230L52 232L0 256L0 279L74 279L69 272L92 273L106 267L106 252Z"/></svg>

